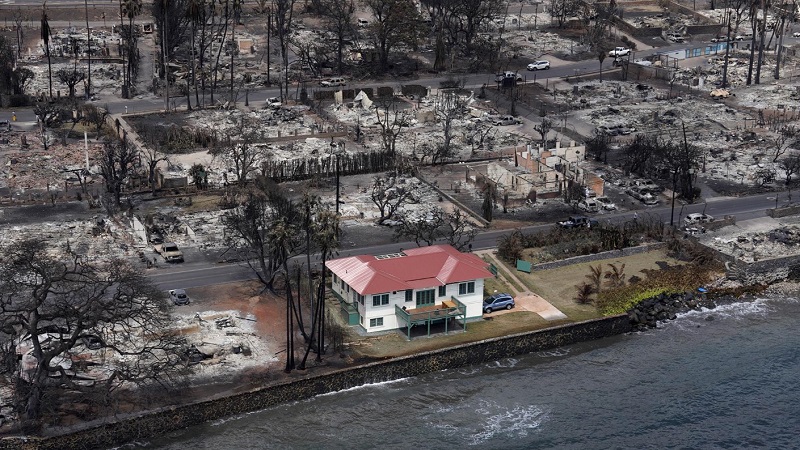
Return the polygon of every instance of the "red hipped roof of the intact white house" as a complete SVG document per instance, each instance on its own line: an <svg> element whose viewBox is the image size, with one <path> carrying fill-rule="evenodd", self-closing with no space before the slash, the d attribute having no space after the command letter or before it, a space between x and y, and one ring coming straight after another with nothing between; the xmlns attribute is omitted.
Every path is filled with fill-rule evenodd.
<svg viewBox="0 0 800 450"><path fill-rule="evenodd" d="M361 295L432 288L494 276L484 260L450 245L408 249L391 257L349 256L327 261L325 266Z"/></svg>

